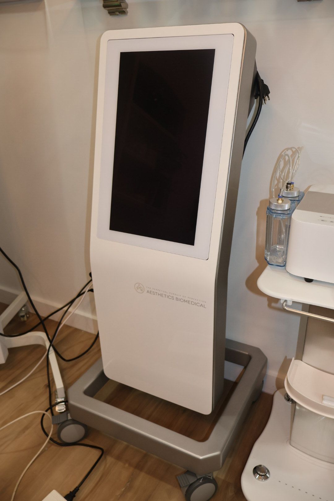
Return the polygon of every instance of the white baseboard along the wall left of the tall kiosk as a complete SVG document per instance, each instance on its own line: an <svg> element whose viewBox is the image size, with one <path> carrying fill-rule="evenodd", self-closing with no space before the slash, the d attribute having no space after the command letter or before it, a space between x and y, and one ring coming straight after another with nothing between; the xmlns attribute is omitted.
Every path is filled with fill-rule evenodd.
<svg viewBox="0 0 334 501"><path fill-rule="evenodd" d="M0 303L10 304L14 299L21 293L22 291L15 291L13 289L8 289L3 286L0 286ZM51 303L50 301L42 301L39 298L32 298L36 308L39 313L46 317L54 310L57 310L63 305ZM33 311L31 306L29 306L30 311ZM70 310L71 311L71 310ZM60 320L62 316L62 312L56 313L52 318L53 320ZM78 308L78 310L71 316L69 319L68 325L71 327L75 327L76 329L80 329L82 331L91 332L96 334L98 330L98 324L96 315L90 312L82 311Z"/></svg>

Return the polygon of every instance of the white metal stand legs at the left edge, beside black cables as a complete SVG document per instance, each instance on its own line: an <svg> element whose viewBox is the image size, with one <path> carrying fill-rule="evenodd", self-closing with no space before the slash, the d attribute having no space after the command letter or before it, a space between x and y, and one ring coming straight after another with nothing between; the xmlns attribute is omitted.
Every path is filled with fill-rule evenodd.
<svg viewBox="0 0 334 501"><path fill-rule="evenodd" d="M23 305L28 301L25 292L21 293L8 308L0 315L0 332L4 334L4 328L12 320L13 317L19 312ZM28 346L40 344L45 346L46 349L49 348L50 343L44 332L29 332L24 336L20 337L9 337L0 338L0 364L5 363L8 357L9 348L17 348L20 346ZM62 376L58 367L57 358L53 348L50 349L49 360L51 365L51 370L53 373L55 385L56 385L56 401L59 401L56 410L62 412L65 410L65 404L62 403L65 399L65 389L62 380Z"/></svg>

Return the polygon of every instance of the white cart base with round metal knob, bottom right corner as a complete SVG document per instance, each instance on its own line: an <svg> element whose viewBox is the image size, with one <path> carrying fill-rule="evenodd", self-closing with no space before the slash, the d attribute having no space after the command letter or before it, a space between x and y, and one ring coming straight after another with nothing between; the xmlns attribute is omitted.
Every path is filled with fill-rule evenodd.
<svg viewBox="0 0 334 501"><path fill-rule="evenodd" d="M247 501L334 501L334 464L315 459L289 443L294 405L274 394L269 421L256 441L241 476ZM270 477L256 480L253 468L266 466Z"/></svg>

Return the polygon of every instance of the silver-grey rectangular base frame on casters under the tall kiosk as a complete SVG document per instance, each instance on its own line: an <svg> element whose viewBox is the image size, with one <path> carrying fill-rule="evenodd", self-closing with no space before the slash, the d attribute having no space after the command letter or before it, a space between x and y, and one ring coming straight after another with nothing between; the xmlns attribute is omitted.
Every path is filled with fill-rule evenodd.
<svg viewBox="0 0 334 501"><path fill-rule="evenodd" d="M262 389L267 359L259 348L226 339L225 360L245 371L208 440L198 442L135 416L94 395L107 383L98 360L68 391L71 417L198 476L221 468L247 411Z"/></svg>

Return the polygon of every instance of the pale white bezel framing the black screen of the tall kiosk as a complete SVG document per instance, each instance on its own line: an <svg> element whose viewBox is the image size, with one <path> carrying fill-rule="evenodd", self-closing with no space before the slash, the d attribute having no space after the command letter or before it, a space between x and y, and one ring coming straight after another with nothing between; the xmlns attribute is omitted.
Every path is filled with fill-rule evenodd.
<svg viewBox="0 0 334 501"><path fill-rule="evenodd" d="M108 41L97 221L98 238L181 256L208 259L233 40L232 34L219 34ZM215 49L195 244L188 245L110 230L120 53L192 49Z"/></svg>

